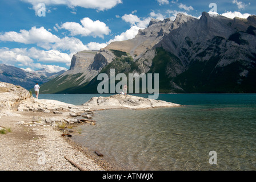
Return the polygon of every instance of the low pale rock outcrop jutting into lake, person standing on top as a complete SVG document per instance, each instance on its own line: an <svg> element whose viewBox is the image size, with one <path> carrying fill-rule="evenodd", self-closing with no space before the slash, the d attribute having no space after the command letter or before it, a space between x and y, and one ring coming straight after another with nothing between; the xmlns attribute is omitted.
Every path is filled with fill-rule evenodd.
<svg viewBox="0 0 256 182"><path fill-rule="evenodd" d="M88 102L83 104L84 106L90 106L101 109L149 109L156 107L174 107L181 106L166 101L153 100L150 98L143 98L131 95L116 94L110 97L93 97Z"/></svg>

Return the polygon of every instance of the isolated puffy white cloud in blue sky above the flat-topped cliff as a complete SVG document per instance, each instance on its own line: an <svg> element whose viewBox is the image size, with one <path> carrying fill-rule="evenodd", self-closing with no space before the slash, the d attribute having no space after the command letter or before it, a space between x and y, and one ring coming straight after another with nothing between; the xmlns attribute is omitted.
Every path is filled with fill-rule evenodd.
<svg viewBox="0 0 256 182"><path fill-rule="evenodd" d="M104 38L104 35L109 35L111 32L109 27L105 23L99 20L93 21L90 18L83 18L80 21L82 24L76 22L66 22L60 27L70 31L71 36L81 35L81 36L97 36Z"/></svg>

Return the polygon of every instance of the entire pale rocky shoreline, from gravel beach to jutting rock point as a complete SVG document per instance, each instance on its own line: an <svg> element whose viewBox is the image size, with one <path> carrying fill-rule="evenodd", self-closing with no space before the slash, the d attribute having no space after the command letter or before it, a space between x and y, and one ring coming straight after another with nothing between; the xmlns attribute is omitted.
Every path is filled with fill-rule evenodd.
<svg viewBox="0 0 256 182"><path fill-rule="evenodd" d="M125 170L74 143L72 134L79 133L79 125L97 125L95 110L161 106L180 105L115 95L77 106L36 99L19 86L0 82L0 171Z"/></svg>

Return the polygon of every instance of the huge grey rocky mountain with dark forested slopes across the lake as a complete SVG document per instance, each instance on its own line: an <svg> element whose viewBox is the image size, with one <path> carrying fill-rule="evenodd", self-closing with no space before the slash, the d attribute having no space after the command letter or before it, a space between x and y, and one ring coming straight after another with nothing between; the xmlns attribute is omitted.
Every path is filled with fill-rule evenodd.
<svg viewBox="0 0 256 182"><path fill-rule="evenodd" d="M47 92L97 93L97 75L115 69L115 74L159 73L161 93L255 93L255 35L256 16L229 19L203 12L200 19L184 14L174 21L151 19L133 39L78 52L70 70L43 89L58 85Z"/></svg>

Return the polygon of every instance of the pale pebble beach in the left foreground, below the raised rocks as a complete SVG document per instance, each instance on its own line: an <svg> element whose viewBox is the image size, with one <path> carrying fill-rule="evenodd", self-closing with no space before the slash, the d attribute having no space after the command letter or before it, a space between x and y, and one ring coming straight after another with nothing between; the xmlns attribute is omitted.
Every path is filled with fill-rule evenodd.
<svg viewBox="0 0 256 182"><path fill-rule="evenodd" d="M73 132L79 132L76 126L94 123L89 122L90 119L81 122L74 115L71 116L74 110L81 112L81 109L68 106L66 109L61 108L61 111L49 110L50 113L45 113L41 107L35 106L42 101L46 100L27 99L24 101L26 104L31 102L34 105L29 107L29 111L21 111L18 107L11 115L0 118L2 129L11 129L11 132L0 135L0 171L79 170L65 157L85 171L122 170L70 139Z"/></svg>

